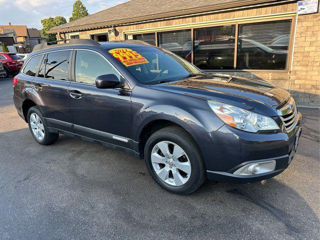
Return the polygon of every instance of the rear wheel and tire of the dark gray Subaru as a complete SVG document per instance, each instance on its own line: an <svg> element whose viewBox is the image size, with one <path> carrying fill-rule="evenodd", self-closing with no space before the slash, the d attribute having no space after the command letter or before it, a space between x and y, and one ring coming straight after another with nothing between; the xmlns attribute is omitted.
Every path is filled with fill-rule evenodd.
<svg viewBox="0 0 320 240"><path fill-rule="evenodd" d="M42 116L42 113L38 106L32 106L28 110L27 115L29 130L38 143L41 145L49 145L55 142L59 134L49 132L47 130L47 123Z"/></svg>

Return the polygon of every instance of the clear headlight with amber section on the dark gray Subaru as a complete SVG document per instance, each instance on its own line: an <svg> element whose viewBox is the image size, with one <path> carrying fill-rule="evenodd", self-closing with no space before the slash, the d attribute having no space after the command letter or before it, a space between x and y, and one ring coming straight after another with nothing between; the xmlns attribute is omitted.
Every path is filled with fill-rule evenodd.
<svg viewBox="0 0 320 240"><path fill-rule="evenodd" d="M271 117L218 101L208 101L208 104L223 122L240 130L257 132L280 129Z"/></svg>

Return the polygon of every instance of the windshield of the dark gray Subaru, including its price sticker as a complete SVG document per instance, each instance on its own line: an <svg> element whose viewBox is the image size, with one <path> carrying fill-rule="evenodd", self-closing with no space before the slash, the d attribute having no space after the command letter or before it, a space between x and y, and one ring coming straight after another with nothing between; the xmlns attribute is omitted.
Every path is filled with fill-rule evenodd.
<svg viewBox="0 0 320 240"><path fill-rule="evenodd" d="M130 52L127 55L123 54L125 52L119 52L119 49L132 50L131 52L133 54L130 54ZM156 47L117 48L111 49L109 52L115 52L114 50L118 54L114 53L113 56L123 63L127 71L129 71L135 79L143 84L175 81L190 74L203 74L201 70L183 58ZM135 61L127 63L126 60L129 57L134 58Z"/></svg>

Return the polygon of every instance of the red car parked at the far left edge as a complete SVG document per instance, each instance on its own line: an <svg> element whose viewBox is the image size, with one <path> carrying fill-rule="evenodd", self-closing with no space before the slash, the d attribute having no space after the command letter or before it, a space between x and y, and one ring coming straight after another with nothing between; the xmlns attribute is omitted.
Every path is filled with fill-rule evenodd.
<svg viewBox="0 0 320 240"><path fill-rule="evenodd" d="M10 52L0 52L0 62L7 75L17 73L23 64L23 60L17 54Z"/></svg>

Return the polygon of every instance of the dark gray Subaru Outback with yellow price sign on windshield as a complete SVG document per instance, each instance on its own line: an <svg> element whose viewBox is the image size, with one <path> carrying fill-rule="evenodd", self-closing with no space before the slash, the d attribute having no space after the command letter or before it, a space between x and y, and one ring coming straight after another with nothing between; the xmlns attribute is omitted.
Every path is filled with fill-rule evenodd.
<svg viewBox="0 0 320 240"><path fill-rule="evenodd" d="M301 114L262 80L199 70L143 42L73 39L35 46L14 77L14 104L34 139L62 133L144 158L164 189L188 194L207 177L254 182L290 163Z"/></svg>

